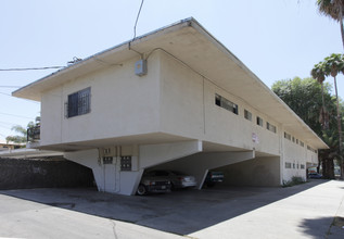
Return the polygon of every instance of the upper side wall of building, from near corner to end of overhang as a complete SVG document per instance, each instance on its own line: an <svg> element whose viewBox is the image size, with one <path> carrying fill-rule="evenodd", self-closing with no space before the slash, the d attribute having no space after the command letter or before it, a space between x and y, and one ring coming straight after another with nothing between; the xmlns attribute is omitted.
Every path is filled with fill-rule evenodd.
<svg viewBox="0 0 344 239"><path fill-rule="evenodd" d="M156 52L157 54L157 52ZM257 112L244 100L216 86L170 55L161 55L161 130L240 149L279 154L278 134L266 128L277 123ZM239 104L239 114L215 105L215 95ZM244 118L244 109L252 122ZM256 116L264 126L256 125ZM279 130L279 129L278 129ZM258 141L252 140L255 134Z"/></svg>

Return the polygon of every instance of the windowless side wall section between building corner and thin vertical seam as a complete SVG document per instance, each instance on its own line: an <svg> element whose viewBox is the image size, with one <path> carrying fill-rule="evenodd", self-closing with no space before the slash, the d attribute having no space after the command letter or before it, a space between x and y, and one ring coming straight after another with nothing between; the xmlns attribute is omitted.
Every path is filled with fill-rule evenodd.
<svg viewBox="0 0 344 239"><path fill-rule="evenodd" d="M164 52L161 59L161 130L204 138L203 78Z"/></svg>

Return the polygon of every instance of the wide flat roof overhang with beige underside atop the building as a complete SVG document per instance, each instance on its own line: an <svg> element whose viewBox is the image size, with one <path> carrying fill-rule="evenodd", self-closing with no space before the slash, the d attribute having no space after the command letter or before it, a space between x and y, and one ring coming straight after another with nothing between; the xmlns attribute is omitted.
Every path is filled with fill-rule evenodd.
<svg viewBox="0 0 344 239"><path fill-rule="evenodd" d="M328 148L279 97L193 18L91 55L14 91L13 96L40 101L42 92L68 80L119 66L126 60L140 58L138 52L146 58L158 50L282 124L285 131L302 136L303 140L317 149Z"/></svg>

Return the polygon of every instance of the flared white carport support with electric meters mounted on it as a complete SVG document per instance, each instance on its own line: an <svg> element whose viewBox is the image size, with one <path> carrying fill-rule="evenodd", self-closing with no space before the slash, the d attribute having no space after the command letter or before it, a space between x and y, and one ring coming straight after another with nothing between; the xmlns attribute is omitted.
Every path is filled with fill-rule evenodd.
<svg viewBox="0 0 344 239"><path fill-rule="evenodd" d="M67 152L65 159L90 167L99 191L135 194L144 168L202 151L202 142L183 141L148 146L109 147ZM131 168L122 169L122 156L130 156Z"/></svg>

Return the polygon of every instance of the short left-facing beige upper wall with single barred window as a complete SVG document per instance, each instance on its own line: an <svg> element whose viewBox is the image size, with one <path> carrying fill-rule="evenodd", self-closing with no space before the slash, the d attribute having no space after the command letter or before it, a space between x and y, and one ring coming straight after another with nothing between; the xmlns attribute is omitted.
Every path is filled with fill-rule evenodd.
<svg viewBox="0 0 344 239"><path fill-rule="evenodd" d="M137 60L43 92L41 146L158 131L160 64L152 55L149 74L139 77L133 68ZM87 87L91 87L91 112L66 118L68 95Z"/></svg>

